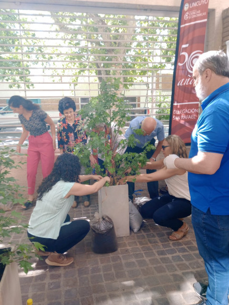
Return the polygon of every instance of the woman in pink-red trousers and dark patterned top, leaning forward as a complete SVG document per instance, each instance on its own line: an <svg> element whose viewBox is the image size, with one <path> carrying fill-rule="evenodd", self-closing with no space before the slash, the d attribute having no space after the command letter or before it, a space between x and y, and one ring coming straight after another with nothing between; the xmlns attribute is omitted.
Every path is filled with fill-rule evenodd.
<svg viewBox="0 0 229 305"><path fill-rule="evenodd" d="M19 113L23 132L17 144L17 152L21 152L21 145L29 136L27 157L27 182L28 200L24 208L32 206L34 200L36 175L38 163L41 160L43 178L47 177L54 165L54 151L56 149L55 124L51 117L34 104L19 95L14 95L9 100L9 106L14 113ZM50 125L52 136L49 134L46 123Z"/></svg>

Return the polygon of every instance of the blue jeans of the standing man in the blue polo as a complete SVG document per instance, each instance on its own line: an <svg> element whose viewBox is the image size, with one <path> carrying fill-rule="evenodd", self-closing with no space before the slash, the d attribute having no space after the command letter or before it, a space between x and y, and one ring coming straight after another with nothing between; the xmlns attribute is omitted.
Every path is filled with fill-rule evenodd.
<svg viewBox="0 0 229 305"><path fill-rule="evenodd" d="M192 224L208 275L207 305L227 305L229 289L229 215L211 215L192 206Z"/></svg>

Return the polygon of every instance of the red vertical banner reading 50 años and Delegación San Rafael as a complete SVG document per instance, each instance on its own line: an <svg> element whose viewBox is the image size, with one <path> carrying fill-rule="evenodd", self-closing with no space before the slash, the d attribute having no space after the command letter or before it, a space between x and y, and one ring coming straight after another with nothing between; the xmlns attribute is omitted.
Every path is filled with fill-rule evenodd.
<svg viewBox="0 0 229 305"><path fill-rule="evenodd" d="M177 34L175 67L170 109L169 134L190 143L198 118L192 68L204 50L208 0L182 0Z"/></svg>

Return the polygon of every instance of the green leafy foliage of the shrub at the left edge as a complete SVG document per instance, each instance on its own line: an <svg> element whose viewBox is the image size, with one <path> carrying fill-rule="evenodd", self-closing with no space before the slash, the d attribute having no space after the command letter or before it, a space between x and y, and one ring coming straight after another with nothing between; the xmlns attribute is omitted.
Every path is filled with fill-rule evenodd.
<svg viewBox="0 0 229 305"><path fill-rule="evenodd" d="M8 146L0 146L0 202L7 205L9 202L23 204L23 187L18 185L16 179L11 177L11 170L18 169L23 163L15 164L12 159L13 155L17 154L15 149ZM32 263L29 261L36 255L37 249L44 250L39 243L30 244L15 242L5 242L6 238L11 238L12 234L23 234L28 225L21 223L23 220L22 214L16 211L6 212L0 208L0 242L7 244L6 251L0 254L0 263L3 265L10 264L13 261L19 263L20 267L28 273L32 268ZM36 255L38 256L38 255ZM39 256L38 256L39 257Z"/></svg>

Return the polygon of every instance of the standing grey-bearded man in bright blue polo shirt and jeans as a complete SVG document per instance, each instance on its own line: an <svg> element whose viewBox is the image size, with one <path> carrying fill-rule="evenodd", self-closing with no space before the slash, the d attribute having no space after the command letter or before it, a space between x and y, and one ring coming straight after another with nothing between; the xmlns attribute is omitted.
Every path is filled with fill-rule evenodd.
<svg viewBox="0 0 229 305"><path fill-rule="evenodd" d="M190 159L166 165L189 172L192 224L208 274L201 305L227 305L229 290L229 61L223 51L200 55L193 67L203 112L191 136ZM168 163L167 163L168 162Z"/></svg>

